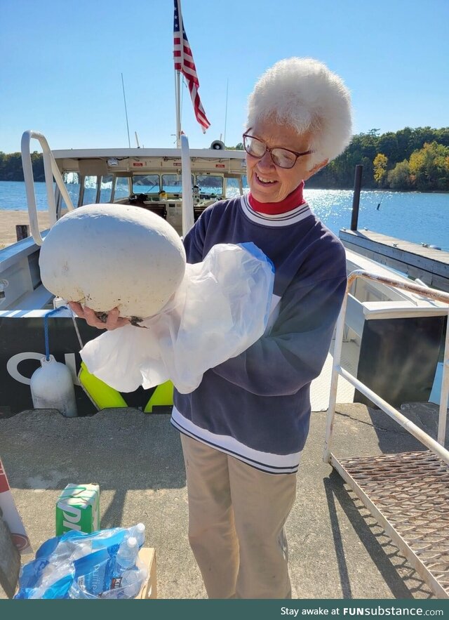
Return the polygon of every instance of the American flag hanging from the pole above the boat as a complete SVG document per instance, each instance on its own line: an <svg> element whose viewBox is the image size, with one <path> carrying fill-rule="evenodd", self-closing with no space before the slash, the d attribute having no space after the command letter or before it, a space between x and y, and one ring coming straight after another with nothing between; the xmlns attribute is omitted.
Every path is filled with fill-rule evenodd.
<svg viewBox="0 0 449 620"><path fill-rule="evenodd" d="M182 36L181 36L182 30ZM189 86L190 96L192 97L192 103L194 105L194 112L196 120L201 125L203 133L206 133L206 129L210 126L210 122L206 117L206 112L201 105L199 98L199 81L196 74L196 67L194 63L194 57L192 56L192 50L189 46L187 34L185 34L184 25L182 23L182 14L180 7L180 0L175 0L175 21L173 25L173 57L175 59L175 70L180 71L187 80L187 86Z"/></svg>

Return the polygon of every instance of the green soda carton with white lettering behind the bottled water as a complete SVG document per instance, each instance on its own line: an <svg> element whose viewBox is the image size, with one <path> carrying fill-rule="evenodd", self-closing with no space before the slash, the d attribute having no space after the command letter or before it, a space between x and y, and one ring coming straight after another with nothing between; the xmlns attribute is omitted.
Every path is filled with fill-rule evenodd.
<svg viewBox="0 0 449 620"><path fill-rule="evenodd" d="M100 486L67 484L56 503L56 536L76 529L91 534L100 528Z"/></svg>

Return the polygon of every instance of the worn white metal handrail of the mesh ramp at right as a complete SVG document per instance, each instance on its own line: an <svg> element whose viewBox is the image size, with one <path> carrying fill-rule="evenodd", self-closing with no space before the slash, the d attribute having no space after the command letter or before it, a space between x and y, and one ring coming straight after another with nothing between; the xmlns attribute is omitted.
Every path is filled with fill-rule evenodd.
<svg viewBox="0 0 449 620"><path fill-rule="evenodd" d="M445 336L445 349L443 355L443 378L441 381L441 397L440 397L440 408L439 408L439 417L438 417L438 441L435 441L427 435L419 426L416 426L413 422L411 422L406 416L403 416L397 409L392 407L389 403L383 400L380 396L378 396L373 390L370 390L367 385L358 381L356 377L351 375L348 371L344 370L341 367L341 357L342 357L342 344L343 344L343 333L344 333L344 317L346 315L347 308L347 300L349 289L351 288L352 283L356 278L364 278L374 280L375 282L381 282L382 284L387 284L388 286L394 286L398 289L403 289L405 291L412 291L415 293L420 293L424 297L434 299L436 301L443 301L444 303L449 304L449 294L443 293L443 291L437 291L436 289L430 289L424 286L418 286L417 284L410 284L408 282L400 282L399 280L378 276L363 270L353 271L348 276L347 281L347 289L346 294L344 296L344 301L342 303L342 308L340 310L340 315L337 319L337 326L335 331L335 347L334 347L334 357L333 357L333 371L332 378L330 381L330 399L329 399L329 408L326 419L326 439L325 446L323 451L323 461L326 463L330 463L331 461L331 437L333 431L333 422L335 417L335 404L337 402L337 385L338 385L338 377L341 374L349 383L354 385L354 387L359 390L363 395L368 397L377 407L380 407L382 411L388 414L391 418L393 418L398 424L400 424L403 428L405 428L411 435L416 437L418 441L427 446L431 451L434 452L440 459L445 461L445 463L449 464L449 451L444 447L445 440L445 426L446 426L446 417L448 411L448 397L449 397L449 308L448 308L448 324L446 327L446 336Z"/></svg>

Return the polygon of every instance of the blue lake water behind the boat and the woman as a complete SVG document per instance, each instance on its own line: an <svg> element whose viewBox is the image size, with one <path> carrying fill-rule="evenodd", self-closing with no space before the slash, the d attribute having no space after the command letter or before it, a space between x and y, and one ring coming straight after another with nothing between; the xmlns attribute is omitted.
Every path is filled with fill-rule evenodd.
<svg viewBox="0 0 449 620"><path fill-rule="evenodd" d="M37 209L43 211L45 183L35 183L35 192ZM352 190L304 190L304 197L316 216L337 235L340 228L351 225L352 195ZM89 199L94 202L94 194L89 198L86 193L85 202ZM25 183L0 181L1 209L27 209ZM449 251L449 194L362 191L358 228L363 227Z"/></svg>

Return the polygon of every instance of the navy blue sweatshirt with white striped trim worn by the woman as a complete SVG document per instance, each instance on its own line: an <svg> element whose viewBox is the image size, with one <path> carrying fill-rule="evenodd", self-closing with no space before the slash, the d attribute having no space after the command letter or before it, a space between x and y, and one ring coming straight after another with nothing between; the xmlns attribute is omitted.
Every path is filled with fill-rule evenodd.
<svg viewBox="0 0 449 620"><path fill-rule="evenodd" d="M269 473L295 473L309 431L310 383L319 376L346 287L344 248L307 203L280 215L248 197L209 206L185 236L188 263L217 243L253 242L274 263L264 336L175 390L172 424L185 435Z"/></svg>

